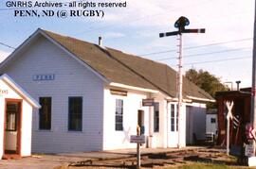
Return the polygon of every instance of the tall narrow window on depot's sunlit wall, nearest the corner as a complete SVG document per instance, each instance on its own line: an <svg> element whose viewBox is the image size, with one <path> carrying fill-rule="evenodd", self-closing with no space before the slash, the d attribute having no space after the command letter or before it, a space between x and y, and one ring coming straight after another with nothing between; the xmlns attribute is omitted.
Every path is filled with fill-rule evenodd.
<svg viewBox="0 0 256 169"><path fill-rule="evenodd" d="M123 100L116 99L116 123L115 128L117 131L123 130Z"/></svg>

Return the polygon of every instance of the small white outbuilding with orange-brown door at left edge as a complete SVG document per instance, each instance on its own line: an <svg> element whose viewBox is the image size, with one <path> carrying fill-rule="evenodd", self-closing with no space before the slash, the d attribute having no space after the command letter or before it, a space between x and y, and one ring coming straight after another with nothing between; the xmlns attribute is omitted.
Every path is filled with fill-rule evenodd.
<svg viewBox="0 0 256 169"><path fill-rule="evenodd" d="M8 75L0 76L0 159L30 156L32 111L39 108Z"/></svg>

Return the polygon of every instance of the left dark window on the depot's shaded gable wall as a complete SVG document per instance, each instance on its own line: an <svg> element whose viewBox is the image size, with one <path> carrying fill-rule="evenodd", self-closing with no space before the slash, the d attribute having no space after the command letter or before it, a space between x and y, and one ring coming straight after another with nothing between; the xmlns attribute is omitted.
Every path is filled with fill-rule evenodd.
<svg viewBox="0 0 256 169"><path fill-rule="evenodd" d="M50 130L51 128L51 97L40 97L39 102L39 129Z"/></svg>

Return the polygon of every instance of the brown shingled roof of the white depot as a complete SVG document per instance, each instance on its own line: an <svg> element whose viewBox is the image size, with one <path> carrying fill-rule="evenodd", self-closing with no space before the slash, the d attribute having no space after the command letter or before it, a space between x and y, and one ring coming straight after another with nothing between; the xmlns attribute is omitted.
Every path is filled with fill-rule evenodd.
<svg viewBox="0 0 256 169"><path fill-rule="evenodd" d="M176 72L166 64L128 55L112 48L102 48L94 43L83 42L50 31L42 31L111 82L176 96ZM184 96L213 100L209 93L187 78L183 79Z"/></svg>

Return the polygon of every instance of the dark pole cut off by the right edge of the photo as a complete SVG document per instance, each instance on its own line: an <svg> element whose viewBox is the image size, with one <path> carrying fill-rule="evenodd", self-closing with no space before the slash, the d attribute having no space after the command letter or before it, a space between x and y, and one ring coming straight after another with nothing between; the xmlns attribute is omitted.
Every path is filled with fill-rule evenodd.
<svg viewBox="0 0 256 169"><path fill-rule="evenodd" d="M256 7L256 4L255 4ZM250 124L256 128L256 9L254 12L254 35L253 35L253 57L252 57L252 86L251 86L251 109ZM255 141L253 144L253 155L255 156Z"/></svg>

